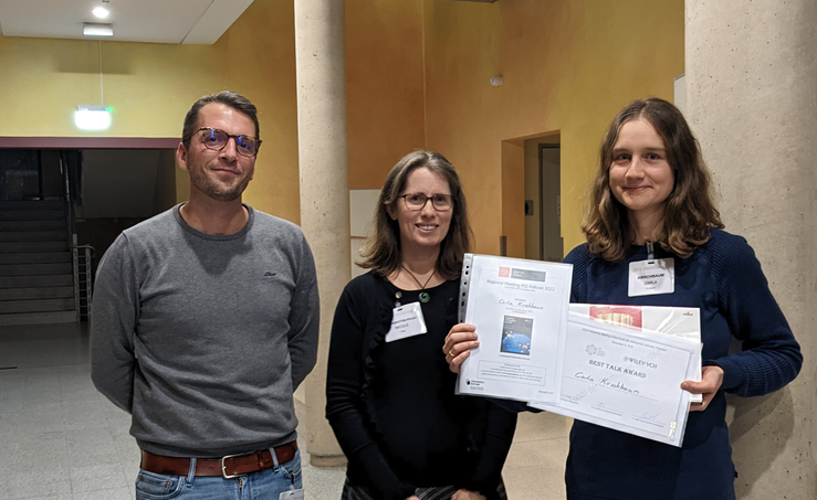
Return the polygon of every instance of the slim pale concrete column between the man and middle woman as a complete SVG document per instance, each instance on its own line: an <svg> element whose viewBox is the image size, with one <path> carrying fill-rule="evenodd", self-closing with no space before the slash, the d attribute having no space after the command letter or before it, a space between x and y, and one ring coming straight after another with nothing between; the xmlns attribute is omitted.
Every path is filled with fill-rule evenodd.
<svg viewBox="0 0 817 500"><path fill-rule="evenodd" d="M349 280L345 66L344 2L295 0L301 226L315 255L321 291L317 365L305 381L304 437L314 466L345 461L324 417L332 317Z"/></svg>

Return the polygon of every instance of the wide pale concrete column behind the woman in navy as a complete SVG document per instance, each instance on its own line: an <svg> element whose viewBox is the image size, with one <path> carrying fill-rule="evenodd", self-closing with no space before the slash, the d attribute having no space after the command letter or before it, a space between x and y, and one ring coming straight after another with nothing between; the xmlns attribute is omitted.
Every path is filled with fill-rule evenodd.
<svg viewBox="0 0 817 500"><path fill-rule="evenodd" d="M805 363L788 387L731 400L741 499L817 498L817 2L687 0L687 116L726 231L763 264Z"/></svg>

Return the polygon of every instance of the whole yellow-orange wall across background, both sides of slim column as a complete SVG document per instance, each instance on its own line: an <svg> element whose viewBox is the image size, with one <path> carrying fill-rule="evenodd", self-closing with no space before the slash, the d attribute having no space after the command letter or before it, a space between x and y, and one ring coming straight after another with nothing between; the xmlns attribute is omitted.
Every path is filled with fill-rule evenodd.
<svg viewBox="0 0 817 500"><path fill-rule="evenodd" d="M291 0L255 0L214 45L103 42L114 123L93 134L179 137L201 95L245 94L264 141L245 201L297 222L293 18ZM461 172L483 253L500 235L524 252L524 164L503 141L561 132L569 249L606 125L632 98L671 98L683 72L683 0L346 0L345 22L349 187L379 188L408 151L438 150ZM0 136L88 135L73 110L98 102L98 42L0 36Z"/></svg>

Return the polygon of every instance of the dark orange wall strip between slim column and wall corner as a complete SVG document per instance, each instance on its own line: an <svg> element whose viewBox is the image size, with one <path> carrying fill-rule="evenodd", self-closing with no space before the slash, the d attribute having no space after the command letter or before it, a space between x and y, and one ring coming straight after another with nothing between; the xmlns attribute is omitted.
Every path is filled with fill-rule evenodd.
<svg viewBox="0 0 817 500"><path fill-rule="evenodd" d="M422 0L346 0L350 189L379 189L423 148Z"/></svg>

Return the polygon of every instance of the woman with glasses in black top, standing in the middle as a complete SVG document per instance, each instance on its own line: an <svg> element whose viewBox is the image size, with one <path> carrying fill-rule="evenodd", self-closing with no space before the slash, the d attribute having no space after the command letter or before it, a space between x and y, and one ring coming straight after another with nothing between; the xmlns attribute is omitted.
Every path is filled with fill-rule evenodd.
<svg viewBox="0 0 817 500"><path fill-rule="evenodd" d="M363 251L370 270L346 286L332 326L326 416L348 459L345 500L506 498L500 474L516 416L454 395L439 355L469 242L451 163L404 157Z"/></svg>

